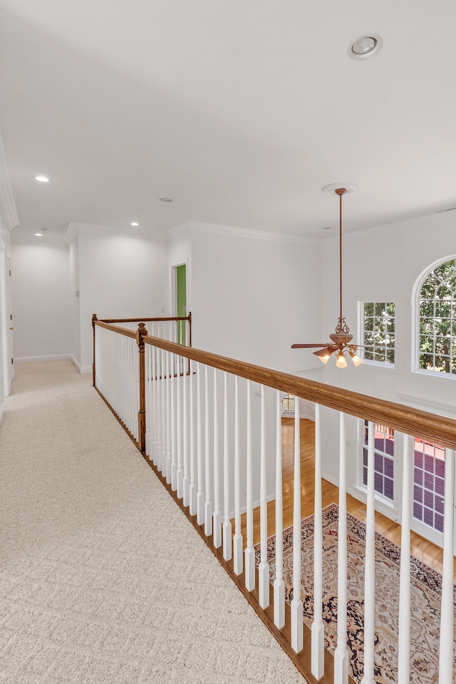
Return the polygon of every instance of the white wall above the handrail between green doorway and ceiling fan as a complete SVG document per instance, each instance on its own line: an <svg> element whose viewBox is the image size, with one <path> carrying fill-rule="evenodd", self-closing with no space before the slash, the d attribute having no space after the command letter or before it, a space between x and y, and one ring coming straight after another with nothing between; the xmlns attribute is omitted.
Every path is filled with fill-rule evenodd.
<svg viewBox="0 0 456 684"><path fill-rule="evenodd" d="M320 247L192 228L194 346L258 366L295 371L294 342L320 331Z"/></svg>

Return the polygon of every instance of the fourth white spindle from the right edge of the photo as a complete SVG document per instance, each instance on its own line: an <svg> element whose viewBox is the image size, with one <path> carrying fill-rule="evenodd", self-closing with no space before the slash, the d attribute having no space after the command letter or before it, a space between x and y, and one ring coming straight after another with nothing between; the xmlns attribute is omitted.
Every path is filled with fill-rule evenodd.
<svg viewBox="0 0 456 684"><path fill-rule="evenodd" d="M339 519L337 550L337 646L334 684L348 683L347 650L347 466L345 415L339 414Z"/></svg>

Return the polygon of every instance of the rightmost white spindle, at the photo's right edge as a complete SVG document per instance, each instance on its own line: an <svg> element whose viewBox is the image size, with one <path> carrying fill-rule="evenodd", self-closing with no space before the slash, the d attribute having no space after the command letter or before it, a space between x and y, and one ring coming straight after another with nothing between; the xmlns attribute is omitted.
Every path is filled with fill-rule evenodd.
<svg viewBox="0 0 456 684"><path fill-rule="evenodd" d="M445 502L443 508L443 574L440 613L439 684L453 681L453 554L455 452L445 449Z"/></svg>

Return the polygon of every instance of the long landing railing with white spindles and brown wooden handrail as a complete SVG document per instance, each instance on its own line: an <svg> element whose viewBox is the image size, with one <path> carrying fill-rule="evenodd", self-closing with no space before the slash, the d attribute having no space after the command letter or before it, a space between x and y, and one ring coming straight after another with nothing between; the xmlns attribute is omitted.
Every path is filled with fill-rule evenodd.
<svg viewBox="0 0 456 684"><path fill-rule="evenodd" d="M207 544L214 549L236 579L261 618L286 646L294 662L309 680L348 682L348 549L346 515L346 420L350 415L369 421L368 482L366 505L366 553L364 557L364 622L362 684L378 681L375 675L376 621L375 585L375 495L374 495L374 421L390 425L404 434L402 549L400 559L400 611L396 681L414 681L410 660L410 442L408 435L420 435L447 445L445 450L445 532L442 574L440 630L435 641L439 684L450 684L453 659L453 501L456 421L422 411L376 400L327 385L312 383L285 373L250 366L178 346L142 331L125 331L127 343L118 328L95 323L95 384L121 418L141 413L141 402L133 398L138 389L140 364L132 360L132 345L145 349L145 457L155 467L164 484L175 492L178 502L199 527ZM115 328L115 329L114 329ZM133 339L132 336L135 336ZM138 343L138 344L137 344ZM100 368L100 370L99 370ZM131 374L130 380L126 375ZM293 539L291 585L284 581L285 509L289 500L282 497L281 410L283 393L295 398L294 475L287 482L293 499ZM315 426L315 506L314 576L312 578L313 621L311 631L303 625L301 596L301 438L299 398L314 400ZM321 497L321 405L338 411L340 452L338 455L338 553L337 553L337 644L333 664L324 657L323 621L323 523ZM350 407L347 410L346 407ZM115 408L118 407L118 408ZM123 418L121 418L123 420ZM130 424L130 423L129 423ZM141 421L139 421L139 425ZM131 431L134 436L133 430ZM140 441L138 437L135 440ZM450 448L452 447L452 448ZM274 514L268 505L275 502ZM256 521L256 522L255 522ZM254 524L255 522L255 524ZM255 529L257 532L255 532ZM271 536L275 537L274 564L271 566ZM257 537L257 546L254 546ZM288 543L288 541L287 541ZM255 555L257 554L257 569ZM271 584L272 581L272 584ZM272 586L272 589L271 589ZM269 606L269 594L273 601ZM291 598L292 594L292 598ZM291 598L288 607L286 598ZM435 608L436 611L439 608ZM309 639L311 658L303 655ZM392 651L391 658L397 657ZM325 664L326 661L326 664ZM375 677L375 678L374 678ZM411 679L410 679L411 677ZM425 680L423 680L424 682ZM429 682L434 680L429 680Z"/></svg>

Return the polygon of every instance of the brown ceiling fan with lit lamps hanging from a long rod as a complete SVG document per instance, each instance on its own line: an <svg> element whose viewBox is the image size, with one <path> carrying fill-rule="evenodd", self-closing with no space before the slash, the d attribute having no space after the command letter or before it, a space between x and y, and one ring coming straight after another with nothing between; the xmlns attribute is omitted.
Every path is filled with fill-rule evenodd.
<svg viewBox="0 0 456 684"><path fill-rule="evenodd" d="M355 187L356 186L351 187L351 190L354 190ZM318 356L323 363L328 363L329 357L333 353L336 353L336 366L338 368L346 368L346 352L351 356L354 366L359 366L360 363L363 363L363 359L356 353L359 345L352 344L353 335L350 332L350 328L348 328L345 318L342 316L342 197L346 192L351 192L351 190L348 190L346 187L333 187L332 185L323 187L324 192L335 192L339 197L339 294L341 309L336 330L329 336L331 339L330 343L323 342L323 344L291 345L292 349L318 348L318 351L314 351L314 354Z"/></svg>

